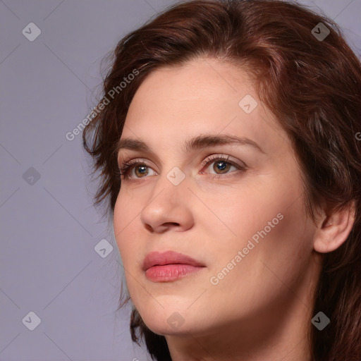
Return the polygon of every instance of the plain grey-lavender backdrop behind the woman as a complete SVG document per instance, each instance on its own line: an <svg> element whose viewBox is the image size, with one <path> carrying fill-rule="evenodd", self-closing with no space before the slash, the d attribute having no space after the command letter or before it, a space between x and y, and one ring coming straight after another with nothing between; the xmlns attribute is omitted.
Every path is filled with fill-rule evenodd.
<svg viewBox="0 0 361 361"><path fill-rule="evenodd" d="M150 360L130 340L130 308L116 312L123 271L92 207L81 134L65 135L96 105L102 57L174 2L0 1L0 360ZM334 18L360 56L361 0L302 2ZM32 42L29 23L41 30ZM114 250L103 258L104 238ZM41 319L33 331L29 312Z"/></svg>

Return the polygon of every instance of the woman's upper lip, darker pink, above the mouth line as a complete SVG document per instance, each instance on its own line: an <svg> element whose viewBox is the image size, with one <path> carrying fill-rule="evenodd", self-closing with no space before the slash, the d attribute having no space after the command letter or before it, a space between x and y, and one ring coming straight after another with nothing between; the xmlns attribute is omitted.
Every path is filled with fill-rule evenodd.
<svg viewBox="0 0 361 361"><path fill-rule="evenodd" d="M191 266L204 267L204 264L197 262L195 259L182 253L174 251L166 252L150 252L143 262L143 270L146 271L150 267L164 264L190 264Z"/></svg>

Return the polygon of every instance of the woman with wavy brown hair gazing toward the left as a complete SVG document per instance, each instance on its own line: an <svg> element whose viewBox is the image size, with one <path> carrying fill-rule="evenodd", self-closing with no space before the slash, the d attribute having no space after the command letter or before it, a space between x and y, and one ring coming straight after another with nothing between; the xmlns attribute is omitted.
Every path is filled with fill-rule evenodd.
<svg viewBox="0 0 361 361"><path fill-rule="evenodd" d="M83 141L133 341L154 360L360 361L361 65L337 25L194 0L114 54Z"/></svg>

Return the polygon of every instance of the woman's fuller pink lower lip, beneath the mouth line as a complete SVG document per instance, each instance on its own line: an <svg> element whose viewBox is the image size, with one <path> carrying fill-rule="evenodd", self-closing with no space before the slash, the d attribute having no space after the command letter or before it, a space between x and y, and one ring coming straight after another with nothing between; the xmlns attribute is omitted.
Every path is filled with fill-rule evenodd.
<svg viewBox="0 0 361 361"><path fill-rule="evenodd" d="M181 279L184 276L200 271L204 267L191 266L190 264L164 264L164 266L153 266L145 271L149 281L168 282Z"/></svg>

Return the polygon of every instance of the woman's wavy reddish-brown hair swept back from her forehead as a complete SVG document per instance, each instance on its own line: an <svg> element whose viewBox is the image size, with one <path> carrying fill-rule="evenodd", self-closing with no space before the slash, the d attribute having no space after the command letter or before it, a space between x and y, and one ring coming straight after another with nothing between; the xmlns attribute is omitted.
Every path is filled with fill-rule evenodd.
<svg viewBox="0 0 361 361"><path fill-rule="evenodd" d="M315 36L319 23L329 30L324 39ZM312 219L322 202L331 212L355 201L353 229L341 247L323 255L314 295L313 314L322 311L331 323L322 331L310 323L309 340L313 360L360 361L361 141L356 135L361 130L361 64L329 18L280 0L193 0L169 7L126 35L114 51L100 103L112 90L114 99L83 133L102 179L95 204L109 200L114 211L121 187L115 145L142 80L154 69L198 56L247 67L255 76L260 99L293 142ZM135 70L138 75L119 87ZM152 358L171 360L164 336L150 331L135 308L130 331L135 342L144 336Z"/></svg>

